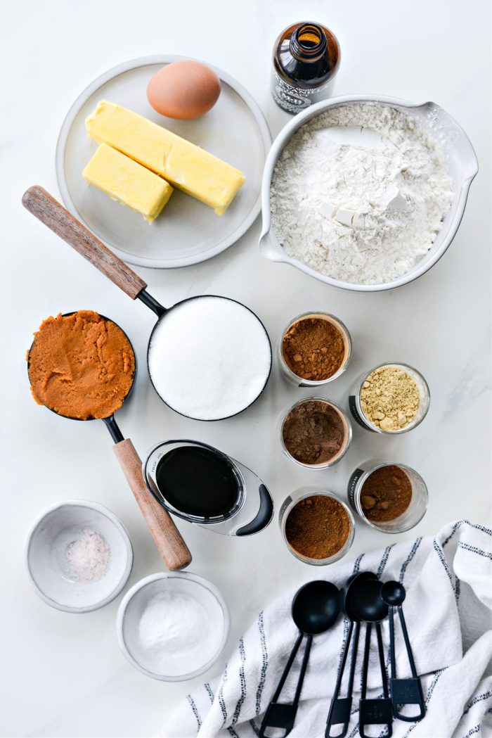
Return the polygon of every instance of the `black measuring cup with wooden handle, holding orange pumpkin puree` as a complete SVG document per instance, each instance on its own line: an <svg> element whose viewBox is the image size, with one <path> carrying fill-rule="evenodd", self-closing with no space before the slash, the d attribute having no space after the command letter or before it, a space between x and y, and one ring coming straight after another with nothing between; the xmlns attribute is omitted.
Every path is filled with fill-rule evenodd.
<svg viewBox="0 0 492 738"><path fill-rule="evenodd" d="M65 315L72 315L73 312L74 311L72 311L72 313L66 313ZM104 315L100 315L100 317L102 317L104 320L109 320L111 323L114 323L114 325L116 325L117 328L122 331L122 334L125 335L128 343L131 345L131 350L133 351L135 356L134 347L131 344L131 340L125 334L125 331L123 331L122 328L120 328L119 325L114 322L114 320L111 320ZM36 339L34 339L34 341L32 342L30 350L27 354L28 375L30 372L30 354L32 351L32 347L35 345L35 341ZM134 378L131 382L130 387L128 388L128 393L123 401L128 399L128 396L134 387L135 377L136 356ZM51 410L51 408L48 409ZM69 420L80 421L82 419L70 417L69 415L61 415L60 413L57 413L56 410L52 410L52 413L55 413L55 415L60 415L60 417L62 418L69 418ZM156 546L159 549L159 553L161 554L162 559L164 559L164 563L166 564L167 568L169 568L170 570L176 570L182 569L185 566L189 565L191 562L190 551L188 550L186 543L182 539L178 528L176 528L173 519L170 517L167 511L164 510L164 508L159 506L156 500L154 500L152 494L150 494L149 490L147 489L144 478L142 477L142 461L140 461L139 455L137 454L134 444L132 444L130 438L125 438L121 430L119 430L117 421L114 418L114 414L108 415L108 417L106 418L87 419L102 420L105 426L108 428L108 431L111 433L111 438L113 438L114 441L114 455L118 460L119 466L121 466L122 472L125 475L126 480L128 481L128 485L130 486L131 491L134 493L136 502L138 503L139 508L142 511L145 522L150 529L150 533L152 534L154 542L156 543Z"/></svg>

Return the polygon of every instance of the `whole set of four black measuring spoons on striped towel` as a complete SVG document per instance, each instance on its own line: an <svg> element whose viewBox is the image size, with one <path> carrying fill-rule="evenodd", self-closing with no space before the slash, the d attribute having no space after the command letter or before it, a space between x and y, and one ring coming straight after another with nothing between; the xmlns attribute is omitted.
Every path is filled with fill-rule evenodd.
<svg viewBox="0 0 492 738"><path fill-rule="evenodd" d="M331 582L309 582L301 587L292 601L292 619L299 629L299 635L280 677L277 689L266 709L260 728L260 738L271 736L271 730L283 729L283 737L287 736L296 719L302 683L308 667L313 637L326 632L332 627L340 613L349 620L347 638L342 647L340 666L336 679L333 697L326 723L325 738L344 738L347 735L352 712L353 680L356 672L358 656L358 641L361 623L366 624L364 653L361 665L361 698L358 705L358 731L361 738L370 738L367 735L367 726L378 726L384 730L384 737L392 735L393 719L415 723L422 720L426 714L423 700L422 686L415 668L415 661L410 646L406 621L401 605L405 599L405 587L400 582L381 582L370 571L355 574L347 580L341 590ZM409 661L411 678L398 678L396 675L395 658L395 610L401 624L401 632L405 644L406 655ZM388 683L384 661L384 646L381 622L389 617L389 660L391 665ZM379 669L381 670L382 697L367 697L367 677L369 672L371 638L373 627L376 633ZM306 636L306 645L302 657L301 669L297 681L294 700L291 703L280 702L280 694L285 685L288 673L299 651L299 646ZM345 666L350 655L349 676L347 690L344 697L340 697ZM403 706L416 706L414 714L403 714ZM336 730L338 729L338 732ZM276 734L277 735L277 734Z"/></svg>

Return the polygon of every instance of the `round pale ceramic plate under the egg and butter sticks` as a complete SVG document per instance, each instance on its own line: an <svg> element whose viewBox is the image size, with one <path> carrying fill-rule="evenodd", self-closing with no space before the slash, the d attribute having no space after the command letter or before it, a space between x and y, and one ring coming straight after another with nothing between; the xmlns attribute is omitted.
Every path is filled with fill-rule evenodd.
<svg viewBox="0 0 492 738"><path fill-rule="evenodd" d="M206 261L238 241L260 213L263 165L271 145L257 103L215 67L222 91L204 117L173 120L156 113L147 100L148 81L162 66L179 59L169 55L133 59L97 77L70 108L56 152L58 184L67 209L119 258L156 269ZM97 148L86 136L84 121L103 98L164 125L240 169L246 182L226 213L219 217L211 207L176 190L162 215L149 225L139 213L84 182L83 168Z"/></svg>

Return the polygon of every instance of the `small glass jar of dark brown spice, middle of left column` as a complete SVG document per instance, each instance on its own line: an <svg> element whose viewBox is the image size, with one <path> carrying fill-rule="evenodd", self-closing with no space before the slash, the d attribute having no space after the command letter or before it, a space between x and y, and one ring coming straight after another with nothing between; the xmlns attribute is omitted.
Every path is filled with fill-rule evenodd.
<svg viewBox="0 0 492 738"><path fill-rule="evenodd" d="M350 425L336 405L323 399L302 400L282 424L285 450L305 466L323 466L342 457L350 441Z"/></svg>

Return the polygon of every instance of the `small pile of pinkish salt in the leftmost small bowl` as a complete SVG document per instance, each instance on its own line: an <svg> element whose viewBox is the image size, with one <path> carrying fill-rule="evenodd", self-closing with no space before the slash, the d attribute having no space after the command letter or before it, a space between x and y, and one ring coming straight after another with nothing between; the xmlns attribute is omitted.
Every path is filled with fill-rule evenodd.
<svg viewBox="0 0 492 738"><path fill-rule="evenodd" d="M99 582L108 573L111 550L100 533L81 528L66 547L66 576L72 582Z"/></svg>

